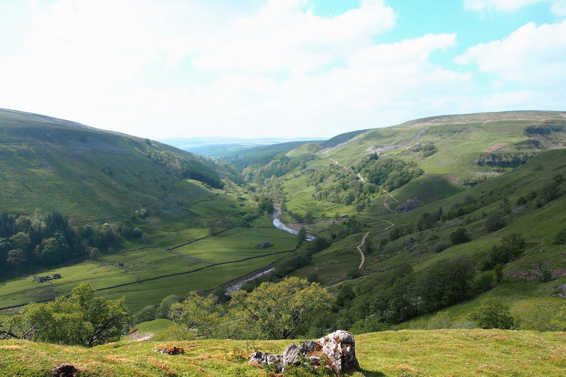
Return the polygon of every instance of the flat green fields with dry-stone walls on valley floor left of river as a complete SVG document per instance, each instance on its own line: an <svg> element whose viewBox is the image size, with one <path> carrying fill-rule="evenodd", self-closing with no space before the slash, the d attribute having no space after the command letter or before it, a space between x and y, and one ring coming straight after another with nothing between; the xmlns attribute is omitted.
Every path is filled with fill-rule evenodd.
<svg viewBox="0 0 566 377"><path fill-rule="evenodd" d="M265 240L271 241L272 246L258 249L256 245ZM128 307L131 311L136 311L146 305L159 304L161 299L169 294L185 295L197 289L215 288L281 257L281 254L265 257L261 255L286 252L293 250L296 245L295 236L274 227L238 227L174 250L187 257L167 252L162 247L155 247L103 255L98 261L38 270L36 275L44 276L59 272L62 278L52 280L53 288L59 296L70 294L72 288L85 281L95 289L127 284L99 292L106 297L117 298L126 295ZM204 259L205 262L189 257ZM234 262L250 257L255 258L212 266L213 263ZM127 269L117 267L118 262L123 262ZM163 275L199 270L203 267L207 268L190 274L164 276L139 282L140 278L153 279ZM53 297L48 283L37 283L33 278L10 279L0 283L2 306L19 305ZM13 313L13 310L0 311L0 318L5 318L10 313Z"/></svg>

